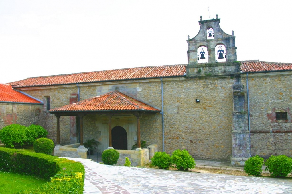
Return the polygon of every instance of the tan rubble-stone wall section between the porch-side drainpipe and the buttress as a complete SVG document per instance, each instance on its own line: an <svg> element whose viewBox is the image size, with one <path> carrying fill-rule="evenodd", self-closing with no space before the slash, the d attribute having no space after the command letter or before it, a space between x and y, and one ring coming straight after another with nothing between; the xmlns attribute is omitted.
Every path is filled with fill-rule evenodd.
<svg viewBox="0 0 292 194"><path fill-rule="evenodd" d="M229 77L206 77L164 83L168 154L187 149L194 159L230 159L234 81Z"/></svg>

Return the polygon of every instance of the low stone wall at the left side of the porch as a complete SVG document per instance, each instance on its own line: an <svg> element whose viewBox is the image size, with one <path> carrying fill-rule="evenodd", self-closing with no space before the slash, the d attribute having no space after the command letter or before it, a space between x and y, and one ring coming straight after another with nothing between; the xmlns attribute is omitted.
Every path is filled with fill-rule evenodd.
<svg viewBox="0 0 292 194"><path fill-rule="evenodd" d="M69 158L87 158L87 148L80 143L70 144L70 145L56 145L54 149L54 155L59 157L69 157Z"/></svg>

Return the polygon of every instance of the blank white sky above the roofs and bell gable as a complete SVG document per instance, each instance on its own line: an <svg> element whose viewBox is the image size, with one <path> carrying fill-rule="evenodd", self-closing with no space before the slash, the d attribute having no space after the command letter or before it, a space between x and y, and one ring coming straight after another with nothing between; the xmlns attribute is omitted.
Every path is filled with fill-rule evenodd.
<svg viewBox="0 0 292 194"><path fill-rule="evenodd" d="M187 64L187 35L197 35L200 16L216 14L225 33L234 30L237 60L291 63L291 7L289 0L0 0L0 83Z"/></svg>

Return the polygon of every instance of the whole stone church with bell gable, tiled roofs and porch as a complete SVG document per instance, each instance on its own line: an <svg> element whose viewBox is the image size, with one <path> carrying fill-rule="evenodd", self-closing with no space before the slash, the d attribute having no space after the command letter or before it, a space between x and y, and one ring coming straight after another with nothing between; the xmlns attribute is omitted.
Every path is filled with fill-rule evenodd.
<svg viewBox="0 0 292 194"><path fill-rule="evenodd" d="M3 100L0 88L0 128L39 124L56 145L94 138L100 153L130 150L136 142L139 148L143 140L168 154L186 149L194 159L232 165L254 155L291 157L292 63L237 61L234 32L219 23L217 15L201 17L199 33L187 40L188 64L8 83L35 101Z"/></svg>

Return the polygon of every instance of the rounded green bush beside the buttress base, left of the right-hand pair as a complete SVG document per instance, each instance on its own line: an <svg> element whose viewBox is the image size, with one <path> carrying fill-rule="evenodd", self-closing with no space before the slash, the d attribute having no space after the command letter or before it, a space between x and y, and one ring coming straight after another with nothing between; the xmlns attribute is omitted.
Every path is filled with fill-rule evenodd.
<svg viewBox="0 0 292 194"><path fill-rule="evenodd" d="M263 167L264 159L260 156L253 156L250 157L247 161L244 163L244 171L249 175L253 176L260 176L262 173L262 167Z"/></svg>

